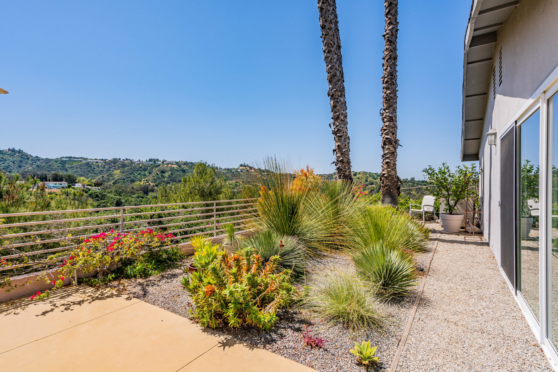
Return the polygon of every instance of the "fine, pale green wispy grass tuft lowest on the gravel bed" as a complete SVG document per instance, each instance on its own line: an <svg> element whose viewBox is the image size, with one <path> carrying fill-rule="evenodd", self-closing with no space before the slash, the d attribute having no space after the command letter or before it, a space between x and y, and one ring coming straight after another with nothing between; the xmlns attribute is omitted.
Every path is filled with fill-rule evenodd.
<svg viewBox="0 0 558 372"><path fill-rule="evenodd" d="M376 291L376 287L353 273L328 271L311 278L304 307L351 330L376 328L387 319L374 297Z"/></svg>

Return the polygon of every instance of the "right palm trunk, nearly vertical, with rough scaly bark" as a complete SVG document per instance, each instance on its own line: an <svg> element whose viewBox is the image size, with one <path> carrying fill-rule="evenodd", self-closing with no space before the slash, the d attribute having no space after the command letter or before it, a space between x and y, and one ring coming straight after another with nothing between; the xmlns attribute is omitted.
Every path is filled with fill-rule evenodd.
<svg viewBox="0 0 558 372"><path fill-rule="evenodd" d="M400 178L397 177L397 1L384 1L386 29L382 76L382 172L380 191L382 204L397 206Z"/></svg>

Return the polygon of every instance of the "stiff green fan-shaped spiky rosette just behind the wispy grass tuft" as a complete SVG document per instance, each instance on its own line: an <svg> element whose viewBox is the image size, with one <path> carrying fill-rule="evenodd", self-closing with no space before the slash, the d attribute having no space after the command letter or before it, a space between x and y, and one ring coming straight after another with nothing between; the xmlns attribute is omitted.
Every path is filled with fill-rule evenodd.
<svg viewBox="0 0 558 372"><path fill-rule="evenodd" d="M417 285L411 255L382 241L359 249L353 254L353 262L359 274L377 284L382 296L403 296Z"/></svg>

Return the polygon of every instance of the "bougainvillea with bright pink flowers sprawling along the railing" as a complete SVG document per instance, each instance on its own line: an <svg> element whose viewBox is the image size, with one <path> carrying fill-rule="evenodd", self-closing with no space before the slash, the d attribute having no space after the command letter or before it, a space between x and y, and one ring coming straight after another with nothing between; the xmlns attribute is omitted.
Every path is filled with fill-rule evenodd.
<svg viewBox="0 0 558 372"><path fill-rule="evenodd" d="M71 238L71 236L68 236ZM74 275L76 270L84 273L98 272L98 277L105 277L118 268L123 260L137 259L143 254L168 247L172 244L174 235L165 234L162 231L152 229L141 230L138 233L117 233L110 230L108 233L100 233L88 238L80 238L80 243L73 248L57 252L45 259L52 269L42 272L36 281L52 283L51 290L37 292L31 299L39 300L50 297L53 289L64 286L64 279ZM75 244L75 240L69 239L67 244ZM27 257L22 261L26 263ZM8 277L1 278L2 287L8 291L13 286ZM31 282L27 282L29 284Z"/></svg>

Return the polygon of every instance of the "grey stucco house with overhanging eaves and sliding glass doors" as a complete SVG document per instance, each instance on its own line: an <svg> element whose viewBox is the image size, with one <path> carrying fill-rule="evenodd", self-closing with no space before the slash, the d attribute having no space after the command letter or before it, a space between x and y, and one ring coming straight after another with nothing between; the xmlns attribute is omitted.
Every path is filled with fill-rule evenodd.
<svg viewBox="0 0 558 372"><path fill-rule="evenodd" d="M461 160L479 161L482 170L484 237L555 365L557 34L556 0L474 0L465 33L461 123Z"/></svg>

